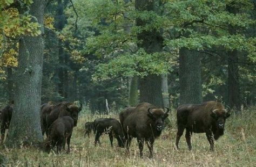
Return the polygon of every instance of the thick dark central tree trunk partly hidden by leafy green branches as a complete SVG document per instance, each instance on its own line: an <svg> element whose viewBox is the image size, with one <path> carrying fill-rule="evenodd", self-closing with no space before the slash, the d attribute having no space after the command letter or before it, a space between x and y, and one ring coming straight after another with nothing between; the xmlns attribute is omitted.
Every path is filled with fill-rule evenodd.
<svg viewBox="0 0 256 167"><path fill-rule="evenodd" d="M139 11L156 11L157 1L136 0L135 8ZM145 26L147 23L144 20L137 19L137 26ZM139 48L143 48L146 53L161 52L163 48L163 38L157 30L142 31L137 35ZM163 96L161 91L161 76L149 74L144 78L140 78L140 102L151 103L157 107L163 107Z"/></svg>

